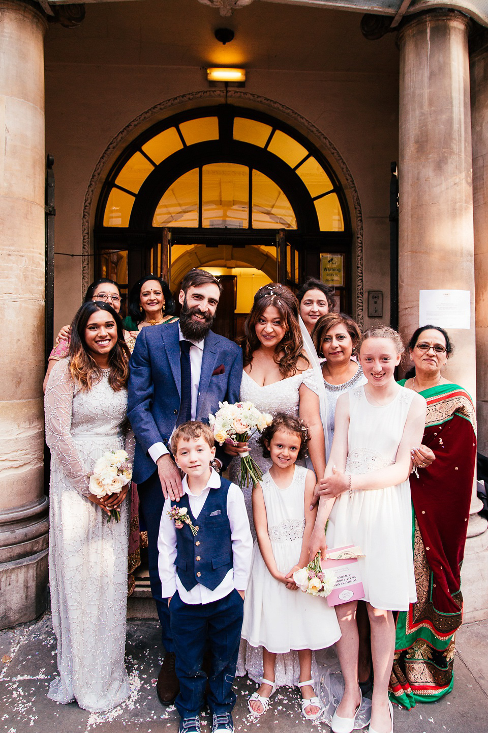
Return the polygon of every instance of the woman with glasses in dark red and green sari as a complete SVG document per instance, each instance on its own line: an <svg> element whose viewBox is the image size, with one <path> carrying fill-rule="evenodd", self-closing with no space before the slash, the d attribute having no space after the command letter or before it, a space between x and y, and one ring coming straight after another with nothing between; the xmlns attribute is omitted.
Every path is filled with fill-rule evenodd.
<svg viewBox="0 0 488 733"><path fill-rule="evenodd" d="M465 389L440 374L452 352L443 328L418 328L408 345L415 376L400 384L427 400L423 445L412 453L417 601L397 616L390 698L435 702L454 685L454 636L462 623L460 568L476 463L476 419ZM418 475L416 475L418 474Z"/></svg>

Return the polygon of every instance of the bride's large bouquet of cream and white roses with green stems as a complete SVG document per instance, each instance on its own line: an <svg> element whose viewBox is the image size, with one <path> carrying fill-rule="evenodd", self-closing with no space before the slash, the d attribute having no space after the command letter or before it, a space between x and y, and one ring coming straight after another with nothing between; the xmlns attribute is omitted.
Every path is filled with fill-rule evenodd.
<svg viewBox="0 0 488 733"><path fill-rule="evenodd" d="M209 415L210 427L214 431L214 438L222 446L223 443L245 443L256 430L263 432L271 425L273 416L261 413L252 402L219 402L219 409L215 415ZM241 453L241 480L239 486L257 484L263 478L263 472L257 463L247 453Z"/></svg>

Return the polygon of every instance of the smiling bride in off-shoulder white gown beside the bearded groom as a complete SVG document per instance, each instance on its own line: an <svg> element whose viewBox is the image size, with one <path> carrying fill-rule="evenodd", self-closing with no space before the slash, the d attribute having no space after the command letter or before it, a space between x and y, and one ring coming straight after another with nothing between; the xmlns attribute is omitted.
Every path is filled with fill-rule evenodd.
<svg viewBox="0 0 488 733"><path fill-rule="evenodd" d="M275 415L285 412L300 417L309 428L308 452L315 476L323 476L326 467L326 440L320 419L319 386L315 373L304 356L304 342L299 326L299 303L285 285L271 283L260 288L244 324L244 372L241 400L252 402L258 410ZM236 455L228 471L233 482L239 483L239 452L248 449L263 474L271 467L271 459L263 458L253 435L242 446L225 446ZM252 487L244 487L249 524L256 537L252 521ZM263 676L263 653L245 641L241 643L237 674L246 671L252 679ZM312 671L316 671L315 660ZM295 685L299 681L299 660L296 652L279 655L276 665L278 685Z"/></svg>

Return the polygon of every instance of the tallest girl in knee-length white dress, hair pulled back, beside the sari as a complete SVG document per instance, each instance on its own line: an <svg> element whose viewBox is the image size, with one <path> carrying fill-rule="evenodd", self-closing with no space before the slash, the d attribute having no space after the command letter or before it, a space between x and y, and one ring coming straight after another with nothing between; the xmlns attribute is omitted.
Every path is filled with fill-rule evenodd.
<svg viewBox="0 0 488 733"><path fill-rule="evenodd" d="M388 681L394 655L392 611L416 600L412 553L412 509L408 477L410 452L421 444L427 403L399 386L394 369L404 346L387 326L370 328L359 345L367 384L337 400L335 434L309 548L359 545L359 560L371 625L375 686L369 733L392 733ZM330 517L329 517L330 515ZM329 517L327 539L324 537ZM356 601L336 606L342 638L337 653L344 677L342 697L331 728L350 733L361 704L358 685Z"/></svg>

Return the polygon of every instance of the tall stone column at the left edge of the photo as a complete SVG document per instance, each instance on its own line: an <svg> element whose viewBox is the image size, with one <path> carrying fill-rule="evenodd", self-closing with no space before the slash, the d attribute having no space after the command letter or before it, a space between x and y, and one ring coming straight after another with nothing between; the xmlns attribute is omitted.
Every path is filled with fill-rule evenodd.
<svg viewBox="0 0 488 733"><path fill-rule="evenodd" d="M44 49L37 4L0 0L0 628L45 608Z"/></svg>

